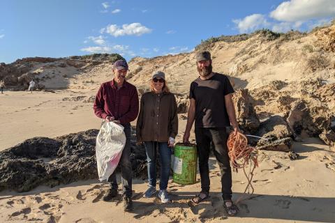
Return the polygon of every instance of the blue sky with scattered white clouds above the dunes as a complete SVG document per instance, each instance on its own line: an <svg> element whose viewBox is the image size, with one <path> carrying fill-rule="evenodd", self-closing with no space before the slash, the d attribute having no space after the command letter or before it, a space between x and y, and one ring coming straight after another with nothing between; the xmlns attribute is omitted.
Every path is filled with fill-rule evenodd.
<svg viewBox="0 0 335 223"><path fill-rule="evenodd" d="M191 52L212 36L310 31L330 24L335 0L1 0L0 62L31 56Z"/></svg>

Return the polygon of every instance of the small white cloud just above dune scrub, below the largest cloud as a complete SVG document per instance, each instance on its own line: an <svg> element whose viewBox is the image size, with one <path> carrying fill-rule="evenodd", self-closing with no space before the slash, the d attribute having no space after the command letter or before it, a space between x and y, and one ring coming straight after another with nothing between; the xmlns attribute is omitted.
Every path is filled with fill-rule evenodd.
<svg viewBox="0 0 335 223"><path fill-rule="evenodd" d="M237 24L240 33L255 31L256 29L269 26L269 22L267 22L265 16L261 14L248 15L243 20L232 20L232 22Z"/></svg>

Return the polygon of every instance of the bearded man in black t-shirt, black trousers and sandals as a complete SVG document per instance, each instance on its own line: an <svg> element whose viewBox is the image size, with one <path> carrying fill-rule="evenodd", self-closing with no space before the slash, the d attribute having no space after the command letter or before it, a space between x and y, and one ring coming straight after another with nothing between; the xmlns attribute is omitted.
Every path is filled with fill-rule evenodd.
<svg viewBox="0 0 335 223"><path fill-rule="evenodd" d="M236 215L239 208L232 203L232 171L228 157L228 132L226 131L230 125L234 128L234 134L239 131L232 102L234 89L227 76L212 72L209 52L198 52L195 59L200 76L191 83L190 106L183 138L184 142L188 142L195 121L201 192L192 201L198 204L209 197L208 160L212 144L221 170L223 206L228 215Z"/></svg>

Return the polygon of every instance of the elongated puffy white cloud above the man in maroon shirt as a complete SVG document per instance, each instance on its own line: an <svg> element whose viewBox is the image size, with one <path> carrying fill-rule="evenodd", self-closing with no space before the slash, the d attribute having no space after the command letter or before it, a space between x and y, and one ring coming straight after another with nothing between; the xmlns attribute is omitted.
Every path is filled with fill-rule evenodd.
<svg viewBox="0 0 335 223"><path fill-rule="evenodd" d="M101 33L109 33L111 36L141 36L144 33L151 33L151 29L142 24L135 22L132 24L123 24L122 28L116 24L108 25L106 28L101 29Z"/></svg>

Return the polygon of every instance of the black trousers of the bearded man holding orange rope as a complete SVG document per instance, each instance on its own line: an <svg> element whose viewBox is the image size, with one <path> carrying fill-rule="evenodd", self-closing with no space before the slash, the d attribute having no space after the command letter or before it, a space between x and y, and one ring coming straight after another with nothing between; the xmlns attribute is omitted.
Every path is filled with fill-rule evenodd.
<svg viewBox="0 0 335 223"><path fill-rule="evenodd" d="M225 128L195 128L195 141L197 142L199 156L199 171L202 192L209 192L209 151L211 143L214 155L221 171L222 197L225 200L232 198L232 171L227 148L228 134Z"/></svg>

